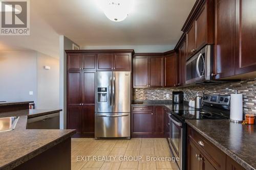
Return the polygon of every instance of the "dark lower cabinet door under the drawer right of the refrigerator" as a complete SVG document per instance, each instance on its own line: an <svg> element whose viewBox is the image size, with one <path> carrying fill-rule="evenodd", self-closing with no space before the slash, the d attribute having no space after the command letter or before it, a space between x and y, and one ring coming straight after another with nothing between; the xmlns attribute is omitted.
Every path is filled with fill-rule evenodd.
<svg viewBox="0 0 256 170"><path fill-rule="evenodd" d="M153 112L132 112L132 133L135 135L152 135Z"/></svg>

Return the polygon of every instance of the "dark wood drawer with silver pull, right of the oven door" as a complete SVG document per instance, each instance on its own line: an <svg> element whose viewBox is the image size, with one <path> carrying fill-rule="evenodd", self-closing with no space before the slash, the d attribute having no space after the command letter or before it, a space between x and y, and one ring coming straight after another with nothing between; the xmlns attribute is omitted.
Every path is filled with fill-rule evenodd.
<svg viewBox="0 0 256 170"><path fill-rule="evenodd" d="M200 149L206 159L211 160L210 163L216 169L225 169L226 155L224 152L191 127L188 127L188 139L196 144L197 148Z"/></svg>

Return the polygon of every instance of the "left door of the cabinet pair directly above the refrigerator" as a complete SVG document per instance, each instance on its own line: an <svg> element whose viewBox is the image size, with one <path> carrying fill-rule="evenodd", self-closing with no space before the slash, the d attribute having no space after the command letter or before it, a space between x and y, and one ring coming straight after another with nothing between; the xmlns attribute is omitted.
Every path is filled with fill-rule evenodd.
<svg viewBox="0 0 256 170"><path fill-rule="evenodd" d="M114 54L98 54L97 70L113 70Z"/></svg>

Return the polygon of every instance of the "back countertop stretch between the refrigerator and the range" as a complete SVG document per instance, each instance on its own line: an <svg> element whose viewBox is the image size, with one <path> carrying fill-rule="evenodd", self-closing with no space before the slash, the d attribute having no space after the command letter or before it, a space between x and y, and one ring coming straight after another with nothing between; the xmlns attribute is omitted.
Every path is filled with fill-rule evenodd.
<svg viewBox="0 0 256 170"><path fill-rule="evenodd" d="M169 110L195 110L195 108L188 106L188 102L183 102L182 104L174 104L173 101L170 100L133 101L132 106L165 106Z"/></svg>

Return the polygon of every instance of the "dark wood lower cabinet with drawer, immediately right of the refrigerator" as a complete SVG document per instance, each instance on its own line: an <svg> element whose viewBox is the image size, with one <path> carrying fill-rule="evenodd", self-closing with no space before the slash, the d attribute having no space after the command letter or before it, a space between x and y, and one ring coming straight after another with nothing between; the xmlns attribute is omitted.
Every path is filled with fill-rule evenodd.
<svg viewBox="0 0 256 170"><path fill-rule="evenodd" d="M132 107L132 110L138 109L141 110L132 112L132 137L164 137L164 107Z"/></svg>

